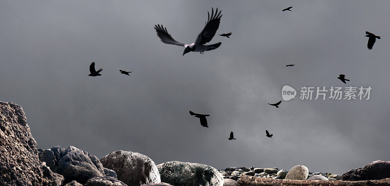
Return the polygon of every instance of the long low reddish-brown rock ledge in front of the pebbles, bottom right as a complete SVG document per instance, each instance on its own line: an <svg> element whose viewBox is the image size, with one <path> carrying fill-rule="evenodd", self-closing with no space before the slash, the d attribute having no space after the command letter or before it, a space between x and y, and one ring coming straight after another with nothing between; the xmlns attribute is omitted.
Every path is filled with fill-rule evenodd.
<svg viewBox="0 0 390 186"><path fill-rule="evenodd" d="M390 186L390 178L367 181L275 180L242 175L239 186Z"/></svg>

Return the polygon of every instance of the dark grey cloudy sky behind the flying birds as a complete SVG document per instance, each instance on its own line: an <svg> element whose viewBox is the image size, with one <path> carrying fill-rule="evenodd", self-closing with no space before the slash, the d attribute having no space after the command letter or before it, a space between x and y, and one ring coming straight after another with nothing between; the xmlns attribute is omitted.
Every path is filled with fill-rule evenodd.
<svg viewBox="0 0 390 186"><path fill-rule="evenodd" d="M288 6L292 12L281 11ZM156 36L154 25L163 24L193 43L212 7L223 14L217 33L233 33L215 36L218 49L182 56L184 48ZM0 1L0 101L23 107L43 149L342 174L389 160L388 7L387 0ZM381 36L371 51L366 31ZM102 76L87 77L92 61ZM268 105L281 100L283 85L372 90L368 101ZM210 114L209 128L189 110ZM230 131L236 140L227 140Z"/></svg>

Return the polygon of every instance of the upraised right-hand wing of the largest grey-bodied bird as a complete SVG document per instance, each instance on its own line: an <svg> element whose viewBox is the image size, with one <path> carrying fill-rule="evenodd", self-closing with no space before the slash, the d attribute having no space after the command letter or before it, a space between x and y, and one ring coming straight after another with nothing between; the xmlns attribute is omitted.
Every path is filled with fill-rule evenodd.
<svg viewBox="0 0 390 186"><path fill-rule="evenodd" d="M219 28L219 23L221 22L221 11L218 13L218 8L215 11L214 14L214 8L212 8L211 16L210 13L207 12L207 23L206 26L203 28L202 32L198 35L198 37L195 40L195 45L204 45L205 43L210 42L215 33L216 30Z"/></svg>

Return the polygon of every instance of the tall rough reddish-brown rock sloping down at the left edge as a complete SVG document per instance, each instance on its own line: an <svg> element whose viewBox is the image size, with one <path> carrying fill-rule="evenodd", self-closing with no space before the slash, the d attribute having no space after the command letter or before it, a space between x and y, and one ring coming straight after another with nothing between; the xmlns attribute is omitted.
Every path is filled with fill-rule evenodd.
<svg viewBox="0 0 390 186"><path fill-rule="evenodd" d="M63 177L39 161L23 109L0 101L0 186L60 186Z"/></svg>

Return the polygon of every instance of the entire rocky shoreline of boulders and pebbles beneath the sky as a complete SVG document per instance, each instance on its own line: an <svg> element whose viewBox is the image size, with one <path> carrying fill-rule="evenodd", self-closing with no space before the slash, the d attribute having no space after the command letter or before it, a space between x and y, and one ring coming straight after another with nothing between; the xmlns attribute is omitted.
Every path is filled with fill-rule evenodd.
<svg viewBox="0 0 390 186"><path fill-rule="evenodd" d="M390 161L343 175L310 172L304 165L226 168L115 151L98 158L76 147L37 149L22 108L0 101L0 186L364 186L390 185Z"/></svg>

